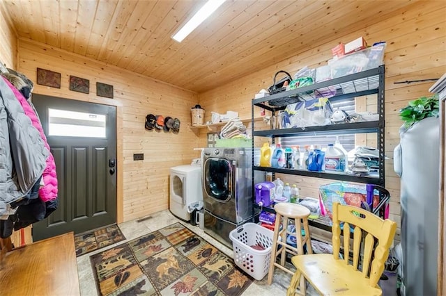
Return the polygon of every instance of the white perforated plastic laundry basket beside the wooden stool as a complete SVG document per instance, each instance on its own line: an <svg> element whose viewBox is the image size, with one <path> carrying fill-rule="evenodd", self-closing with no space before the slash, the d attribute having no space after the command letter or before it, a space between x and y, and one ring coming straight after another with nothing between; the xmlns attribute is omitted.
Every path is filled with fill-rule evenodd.
<svg viewBox="0 0 446 296"><path fill-rule="evenodd" d="M236 265L259 281L270 268L273 234L274 231L255 223L243 224L229 233ZM265 249L252 248L255 245Z"/></svg>

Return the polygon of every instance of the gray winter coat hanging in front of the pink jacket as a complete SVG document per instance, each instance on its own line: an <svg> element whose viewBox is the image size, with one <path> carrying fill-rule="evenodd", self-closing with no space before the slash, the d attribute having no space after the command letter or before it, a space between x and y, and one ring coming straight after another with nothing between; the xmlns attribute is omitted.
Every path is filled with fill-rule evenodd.
<svg viewBox="0 0 446 296"><path fill-rule="evenodd" d="M39 131L0 77L0 215L31 190L48 156Z"/></svg>

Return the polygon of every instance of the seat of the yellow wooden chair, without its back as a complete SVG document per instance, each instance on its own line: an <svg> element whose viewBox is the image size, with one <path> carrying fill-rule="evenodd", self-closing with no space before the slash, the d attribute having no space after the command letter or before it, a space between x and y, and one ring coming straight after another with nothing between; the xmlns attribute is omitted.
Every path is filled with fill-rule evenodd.
<svg viewBox="0 0 446 296"><path fill-rule="evenodd" d="M332 254L308 254L293 256L293 265L322 295L381 295L377 286L369 286L369 279L362 272L353 270Z"/></svg>

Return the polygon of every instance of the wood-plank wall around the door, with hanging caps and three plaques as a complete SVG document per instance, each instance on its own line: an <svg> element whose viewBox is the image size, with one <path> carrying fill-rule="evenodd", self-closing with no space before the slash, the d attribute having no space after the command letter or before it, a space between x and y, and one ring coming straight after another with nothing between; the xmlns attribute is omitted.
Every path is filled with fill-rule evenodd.
<svg viewBox="0 0 446 296"><path fill-rule="evenodd" d="M119 222L169 207L169 168L199 157L193 150L198 135L188 127L197 94L26 39L18 41L17 63L17 69L33 81L37 67L61 73L60 89L36 84L35 93L116 106ZM90 93L70 91L70 75L89 79ZM96 81L113 85L114 99L97 97ZM149 113L178 117L180 133L147 131L144 122ZM144 161L133 161L135 153L144 153Z"/></svg>

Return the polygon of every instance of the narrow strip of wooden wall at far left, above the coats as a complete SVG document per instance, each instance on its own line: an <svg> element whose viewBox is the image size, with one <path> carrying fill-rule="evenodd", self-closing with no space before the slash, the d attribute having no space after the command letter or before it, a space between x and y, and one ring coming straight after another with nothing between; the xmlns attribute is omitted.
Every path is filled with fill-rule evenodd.
<svg viewBox="0 0 446 296"><path fill-rule="evenodd" d="M10 26L11 22L6 22L9 17L4 11L4 3L0 2L0 63L8 68L15 68L17 52L17 34Z"/></svg>

